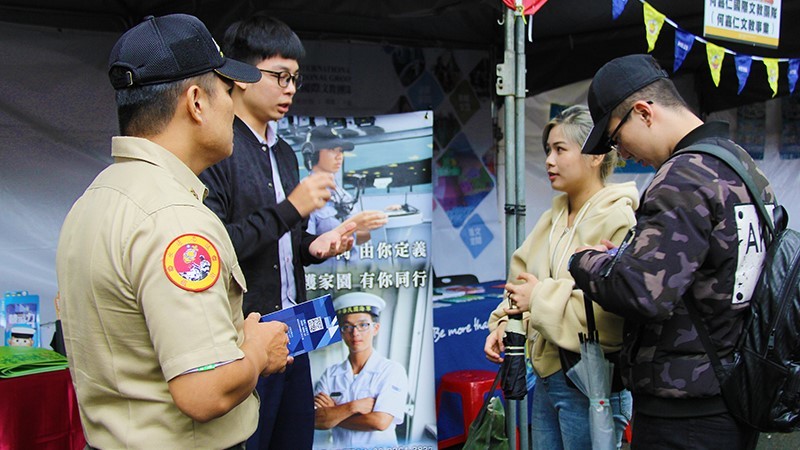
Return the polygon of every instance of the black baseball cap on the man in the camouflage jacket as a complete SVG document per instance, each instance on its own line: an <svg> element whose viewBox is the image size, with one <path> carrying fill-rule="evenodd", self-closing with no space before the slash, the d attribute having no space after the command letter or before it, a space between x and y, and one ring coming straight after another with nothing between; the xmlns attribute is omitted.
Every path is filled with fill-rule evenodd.
<svg viewBox="0 0 800 450"><path fill-rule="evenodd" d="M667 72L650 55L627 55L607 62L589 85L589 113L594 127L583 143L583 153L602 155L611 149L606 145L611 111L634 92L662 78Z"/></svg>

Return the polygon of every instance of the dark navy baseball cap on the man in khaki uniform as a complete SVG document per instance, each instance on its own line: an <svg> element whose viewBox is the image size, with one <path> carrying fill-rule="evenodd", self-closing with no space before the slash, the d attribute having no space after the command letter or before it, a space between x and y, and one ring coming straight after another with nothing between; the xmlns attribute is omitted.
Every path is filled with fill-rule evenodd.
<svg viewBox="0 0 800 450"><path fill-rule="evenodd" d="M225 58L203 22L188 14L146 17L119 38L108 65L114 89L178 81L212 70L233 81L261 79L256 67Z"/></svg>

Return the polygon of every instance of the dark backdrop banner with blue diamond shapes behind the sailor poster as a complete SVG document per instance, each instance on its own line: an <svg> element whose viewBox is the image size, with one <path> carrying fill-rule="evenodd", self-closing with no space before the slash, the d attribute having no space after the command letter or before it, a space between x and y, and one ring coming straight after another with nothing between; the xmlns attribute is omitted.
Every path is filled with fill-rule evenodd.
<svg viewBox="0 0 800 450"><path fill-rule="evenodd" d="M432 110L435 276L505 278L498 204L494 65L487 49L304 40L297 115Z"/></svg>

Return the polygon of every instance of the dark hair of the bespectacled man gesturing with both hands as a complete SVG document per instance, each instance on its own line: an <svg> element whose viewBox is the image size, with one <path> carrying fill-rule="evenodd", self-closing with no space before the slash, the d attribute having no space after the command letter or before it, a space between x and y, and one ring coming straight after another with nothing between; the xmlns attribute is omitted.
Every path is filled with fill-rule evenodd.
<svg viewBox="0 0 800 450"><path fill-rule="evenodd" d="M295 32L280 20L263 13L232 23L225 31L222 51L228 58L252 65L275 56L296 61L306 56Z"/></svg>

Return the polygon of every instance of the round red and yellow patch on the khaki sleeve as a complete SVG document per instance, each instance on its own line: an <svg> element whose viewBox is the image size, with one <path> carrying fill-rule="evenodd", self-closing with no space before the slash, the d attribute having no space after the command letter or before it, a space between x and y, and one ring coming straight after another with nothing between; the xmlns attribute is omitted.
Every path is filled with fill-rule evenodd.
<svg viewBox="0 0 800 450"><path fill-rule="evenodd" d="M219 253L208 239L184 234L170 242L164 252L164 272L175 286L192 292L210 288L219 278Z"/></svg>

